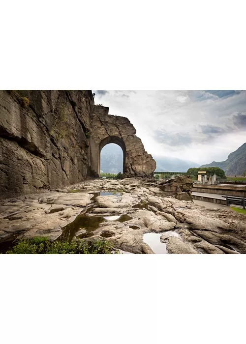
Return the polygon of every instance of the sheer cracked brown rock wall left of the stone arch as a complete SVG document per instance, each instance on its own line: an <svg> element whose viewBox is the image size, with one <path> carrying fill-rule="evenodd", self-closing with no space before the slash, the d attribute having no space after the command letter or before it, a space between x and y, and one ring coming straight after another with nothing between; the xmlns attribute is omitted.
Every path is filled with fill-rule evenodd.
<svg viewBox="0 0 246 344"><path fill-rule="evenodd" d="M85 179L91 91L0 91L0 198Z"/></svg>

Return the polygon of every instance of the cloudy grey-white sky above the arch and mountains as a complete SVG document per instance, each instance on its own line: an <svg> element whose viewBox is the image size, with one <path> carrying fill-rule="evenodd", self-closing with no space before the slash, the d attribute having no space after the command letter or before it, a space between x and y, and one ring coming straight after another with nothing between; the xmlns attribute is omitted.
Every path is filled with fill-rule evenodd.
<svg viewBox="0 0 246 344"><path fill-rule="evenodd" d="M93 90L95 104L127 117L148 153L198 164L246 142L246 91Z"/></svg>

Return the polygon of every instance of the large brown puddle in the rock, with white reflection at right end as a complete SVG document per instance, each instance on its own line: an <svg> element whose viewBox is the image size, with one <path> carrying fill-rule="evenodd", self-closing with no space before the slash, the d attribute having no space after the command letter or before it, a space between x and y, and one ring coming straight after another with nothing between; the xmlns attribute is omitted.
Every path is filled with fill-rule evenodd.
<svg viewBox="0 0 246 344"><path fill-rule="evenodd" d="M78 215L76 219L71 222L70 224L66 225L65 227L62 228L62 236L63 237L68 237L70 240L77 231L81 229L86 229L85 233L82 233L78 235L79 238L88 238L93 235L93 231L95 229L99 228L99 225L104 222L109 220L110 221L118 221L118 222L125 222L129 221L132 219L132 217L128 215L112 215L112 216L100 216L100 215L93 215L93 216L88 216L88 215Z"/></svg>

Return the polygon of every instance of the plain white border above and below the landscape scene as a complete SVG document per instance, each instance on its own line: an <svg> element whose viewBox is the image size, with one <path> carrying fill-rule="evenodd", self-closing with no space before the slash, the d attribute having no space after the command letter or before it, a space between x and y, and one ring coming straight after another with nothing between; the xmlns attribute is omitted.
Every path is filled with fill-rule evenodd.
<svg viewBox="0 0 246 344"><path fill-rule="evenodd" d="M245 89L244 1L12 0L0 13L1 89ZM0 276L4 344L245 341L244 255L1 255Z"/></svg>

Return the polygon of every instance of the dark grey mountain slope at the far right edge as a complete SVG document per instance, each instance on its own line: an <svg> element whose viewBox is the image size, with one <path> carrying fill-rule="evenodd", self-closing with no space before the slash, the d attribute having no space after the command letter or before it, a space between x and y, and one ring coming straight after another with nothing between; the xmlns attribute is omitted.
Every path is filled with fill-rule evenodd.
<svg viewBox="0 0 246 344"><path fill-rule="evenodd" d="M225 161L202 165L200 167L219 167L226 175L242 175L246 172L246 143L228 155Z"/></svg>

